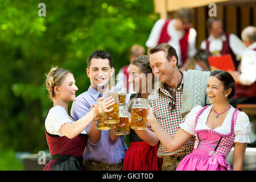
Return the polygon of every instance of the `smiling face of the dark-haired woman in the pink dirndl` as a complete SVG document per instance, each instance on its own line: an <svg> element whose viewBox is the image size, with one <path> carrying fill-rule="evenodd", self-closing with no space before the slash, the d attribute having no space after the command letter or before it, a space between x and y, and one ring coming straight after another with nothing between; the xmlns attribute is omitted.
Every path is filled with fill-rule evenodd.
<svg viewBox="0 0 256 182"><path fill-rule="evenodd" d="M224 90L224 84L215 76L210 76L207 83L207 94L210 103L227 101L230 90Z"/></svg>

